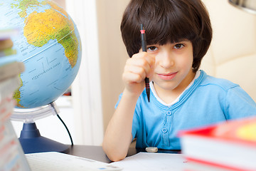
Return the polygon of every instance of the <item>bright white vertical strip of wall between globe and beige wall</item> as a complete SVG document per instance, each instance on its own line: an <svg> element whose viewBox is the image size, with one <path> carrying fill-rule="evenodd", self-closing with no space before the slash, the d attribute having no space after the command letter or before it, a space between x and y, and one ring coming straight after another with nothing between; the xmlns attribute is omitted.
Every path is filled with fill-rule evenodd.
<svg viewBox="0 0 256 171"><path fill-rule="evenodd" d="M103 138L100 57L95 0L66 0L82 41L80 71L72 86L78 144L101 145Z"/></svg>

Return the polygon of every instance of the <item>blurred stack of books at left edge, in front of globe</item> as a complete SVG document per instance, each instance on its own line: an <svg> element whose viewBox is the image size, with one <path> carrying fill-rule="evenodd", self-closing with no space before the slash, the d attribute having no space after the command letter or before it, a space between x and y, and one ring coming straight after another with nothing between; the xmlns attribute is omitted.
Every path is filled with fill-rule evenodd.
<svg viewBox="0 0 256 171"><path fill-rule="evenodd" d="M24 71L23 63L6 62L8 56L16 53L11 49L10 36L16 30L0 30L0 170L23 170L22 148L11 125L15 101L14 91L20 86L19 75Z"/></svg>

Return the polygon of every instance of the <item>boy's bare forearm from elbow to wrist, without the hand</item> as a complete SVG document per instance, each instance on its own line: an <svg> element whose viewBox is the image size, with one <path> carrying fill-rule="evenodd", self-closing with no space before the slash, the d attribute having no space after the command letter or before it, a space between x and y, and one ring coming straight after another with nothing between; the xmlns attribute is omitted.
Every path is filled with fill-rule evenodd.
<svg viewBox="0 0 256 171"><path fill-rule="evenodd" d="M132 142L132 118L134 115L137 96L125 92L115 110L105 133L103 149L112 161L126 157Z"/></svg>

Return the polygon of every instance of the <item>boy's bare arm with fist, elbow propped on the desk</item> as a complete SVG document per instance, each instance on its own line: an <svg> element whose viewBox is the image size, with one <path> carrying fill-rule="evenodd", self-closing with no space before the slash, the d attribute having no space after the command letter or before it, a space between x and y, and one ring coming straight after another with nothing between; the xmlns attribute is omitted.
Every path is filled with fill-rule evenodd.
<svg viewBox="0 0 256 171"><path fill-rule="evenodd" d="M139 95L145 88L144 79L153 75L154 56L137 53L124 67L124 92L110 120L103 140L103 150L112 161L126 157L132 142L132 120Z"/></svg>

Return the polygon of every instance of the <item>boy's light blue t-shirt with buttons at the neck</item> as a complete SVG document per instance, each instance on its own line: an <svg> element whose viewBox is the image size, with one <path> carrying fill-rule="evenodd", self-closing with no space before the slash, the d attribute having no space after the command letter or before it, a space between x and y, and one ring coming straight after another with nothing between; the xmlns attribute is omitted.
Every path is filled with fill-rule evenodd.
<svg viewBox="0 0 256 171"><path fill-rule="evenodd" d="M179 130L252 115L256 115L256 103L245 90L201 71L174 105L163 105L152 92L149 103L144 90L135 107L132 137L137 138L136 147L180 150Z"/></svg>

